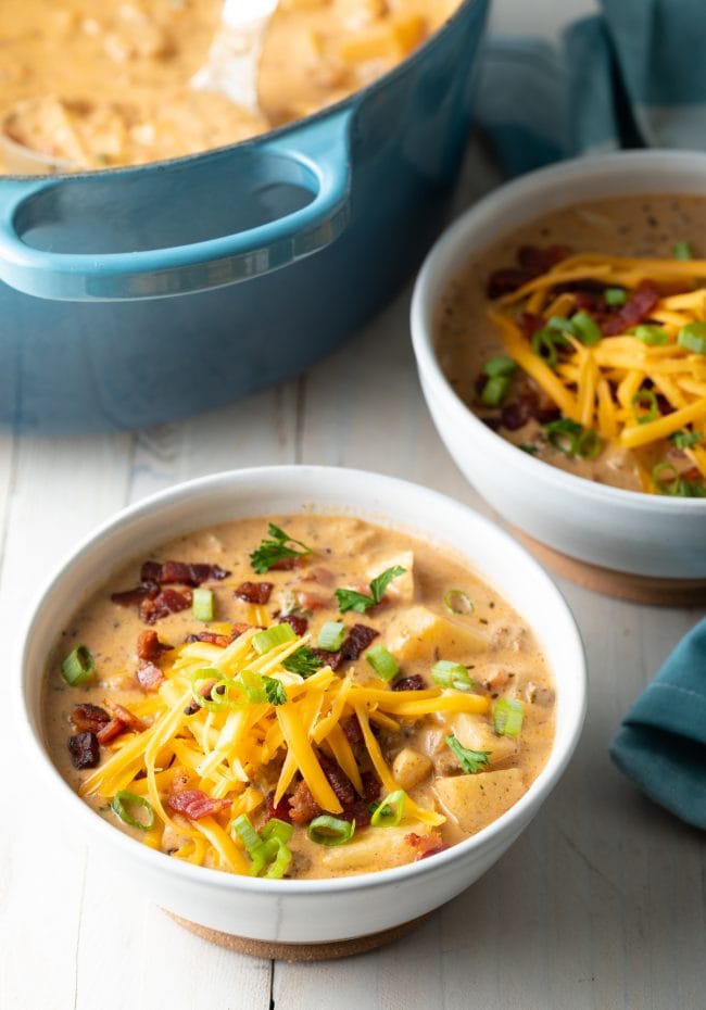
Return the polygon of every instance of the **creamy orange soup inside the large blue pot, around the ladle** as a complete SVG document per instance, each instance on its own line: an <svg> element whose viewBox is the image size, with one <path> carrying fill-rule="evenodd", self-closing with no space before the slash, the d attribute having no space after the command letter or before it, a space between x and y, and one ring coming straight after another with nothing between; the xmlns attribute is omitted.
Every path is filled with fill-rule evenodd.
<svg viewBox="0 0 706 1010"><path fill-rule="evenodd" d="M234 143L365 87L457 0L281 0L261 60L261 115L190 80L223 0L5 0L0 119L23 147L79 168ZM0 166L1 167L1 166Z"/></svg>

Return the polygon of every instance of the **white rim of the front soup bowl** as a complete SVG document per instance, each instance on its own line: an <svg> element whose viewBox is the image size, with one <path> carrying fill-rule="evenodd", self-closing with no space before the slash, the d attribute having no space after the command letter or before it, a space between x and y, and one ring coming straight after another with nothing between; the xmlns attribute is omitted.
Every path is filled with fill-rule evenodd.
<svg viewBox="0 0 706 1010"><path fill-rule="evenodd" d="M488 536L493 538L497 543L504 542L507 550L522 557L525 565L532 571L532 578L537 580L537 583L542 584L543 594L546 595L547 599L551 599L552 606L555 608L556 615L562 621L563 633L568 635L568 647L573 654L575 670L572 672L572 678L576 682L576 702L572 706L569 706L566 714L566 730L562 734L564 743L562 746L557 746L557 743L560 743L557 727L552 749L550 750L544 767L529 788L507 811L469 838L456 843L439 854L413 863L405 863L387 870L352 874L350 876L270 881L260 878L242 876L209 867L193 866L182 860L175 861L165 858L163 853L152 850L150 847L123 833L119 829L97 815L91 807L74 792L65 779L63 779L59 770L54 767L39 733L37 733L33 727L30 700L26 690L26 681L28 679L27 652L30 647L34 626L40 618L40 611L45 601L56 591L58 586L61 585L64 578L67 577L74 567L86 564L93 550L103 543L106 538L118 534L119 531L126 528L139 525L160 508L175 506L185 497L187 501L193 497L194 504L198 504L199 495L202 493L213 492L224 495L227 490L230 490L231 493L235 492L239 483L244 485L248 481L266 480L268 477L276 477L282 482L289 479L308 479L310 485L315 488L322 487L318 482L323 479L335 479L339 475L360 481L361 487L363 485L363 481L366 482L366 487L369 487L370 481L373 481L377 482L380 487L384 487L388 491L394 489L399 493L421 495L428 500L430 506L437 505L438 507L456 510L459 516L465 513L466 518L468 518L468 514L470 514L472 521L482 528ZM371 498L373 493L366 491L366 497L368 497L368 494ZM323 503L319 502L317 504L320 505ZM379 506L376 506L376 509L392 518L393 509L383 509ZM368 512L371 510L373 505L370 505ZM351 512L353 515L362 515L363 518L366 516L366 507L360 503L354 504ZM429 509L428 514L436 514L433 507ZM197 521L194 522L193 529L198 529L198 517L194 518ZM406 526L411 527L412 523L407 522ZM451 545L449 544L449 546ZM468 556L468 553L465 551L459 553ZM470 557L468 557L468 559L470 561ZM50 644L50 647L51 645L53 645L53 642ZM121 509L117 514L94 528L87 536L83 538L81 541L64 556L60 564L54 567L53 572L47 579L27 609L25 621L16 640L13 668L16 670L16 676L13 677L12 690L12 702L15 709L14 722L22 746L29 754L35 770L41 775L43 782L54 792L53 798L56 803L61 801L62 807L64 807L68 813L73 810L75 816L80 818L83 824L86 825L93 836L98 837L100 835L109 848L113 846L116 849L122 849L125 858L131 860L134 863L143 862L148 870L169 876L174 875L175 880L180 881L184 885L193 884L200 887L217 888L224 894L245 892L252 895L272 895L277 898L283 898L288 895L315 896L324 894L344 894L351 891L370 889L389 884L401 884L408 880L414 881L417 876L426 875L434 869L442 870L443 868L449 868L452 863L462 860L464 856L474 848L484 849L487 846L492 847L493 841L497 836L507 836L507 830L510 828L513 821L516 821L518 826L518 831L513 835L513 837L515 837L549 796L569 763L581 735L587 708L588 685L585 651L576 619L554 581L531 554L505 532L505 530L501 529L490 519L477 513L475 509L470 508L470 506L449 495L421 484L402 480L401 478L348 467L303 466L292 464L225 470L180 482ZM43 676L40 676L37 682L41 684L43 682ZM56 790L59 790L59 792L56 792ZM60 794L63 798L60 797Z"/></svg>

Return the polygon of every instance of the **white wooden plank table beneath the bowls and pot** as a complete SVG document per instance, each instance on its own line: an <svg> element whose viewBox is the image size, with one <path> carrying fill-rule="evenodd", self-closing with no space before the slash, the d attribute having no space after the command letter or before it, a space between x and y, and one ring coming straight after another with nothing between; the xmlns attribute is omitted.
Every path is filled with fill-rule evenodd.
<svg viewBox="0 0 706 1010"><path fill-rule="evenodd" d="M563 16L587 5L577 0ZM547 25L556 7L541 4ZM500 16L512 23L512 14L506 0ZM476 175L459 202L490 179ZM336 464L419 481L489 512L427 414L408 341L408 293L306 376L227 409L136 433L0 433L2 710L15 676L9 657L17 616L45 571L116 509L176 481L261 464ZM486 878L407 938L356 958L273 963L185 932L47 821L40 786L23 771L5 727L0 1007L706 1007L704 836L644 799L607 756L631 700L701 615L618 603L558 581L584 635L591 678L569 770Z"/></svg>

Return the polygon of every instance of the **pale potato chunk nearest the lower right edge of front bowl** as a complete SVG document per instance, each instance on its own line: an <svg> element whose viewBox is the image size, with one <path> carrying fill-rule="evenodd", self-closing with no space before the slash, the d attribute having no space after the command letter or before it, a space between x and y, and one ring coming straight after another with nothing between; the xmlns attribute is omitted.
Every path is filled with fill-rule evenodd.
<svg viewBox="0 0 706 1010"><path fill-rule="evenodd" d="M459 828L474 834L508 810L525 792L518 768L437 779L437 795Z"/></svg>

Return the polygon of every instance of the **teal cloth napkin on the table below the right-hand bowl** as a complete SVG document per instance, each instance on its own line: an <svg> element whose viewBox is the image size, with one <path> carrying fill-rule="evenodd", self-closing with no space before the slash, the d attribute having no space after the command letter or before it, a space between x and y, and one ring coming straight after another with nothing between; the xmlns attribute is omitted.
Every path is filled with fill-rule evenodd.
<svg viewBox="0 0 706 1010"><path fill-rule="evenodd" d="M706 829L706 619L632 706L610 757L651 799Z"/></svg>

